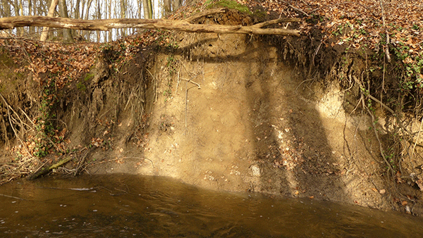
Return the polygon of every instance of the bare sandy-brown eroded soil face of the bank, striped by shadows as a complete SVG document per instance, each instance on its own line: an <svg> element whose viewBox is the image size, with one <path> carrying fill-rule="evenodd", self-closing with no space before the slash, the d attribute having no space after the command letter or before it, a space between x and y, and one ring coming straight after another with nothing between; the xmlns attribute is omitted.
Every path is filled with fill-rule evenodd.
<svg viewBox="0 0 423 238"><path fill-rule="evenodd" d="M355 104L348 101L357 98L337 81L328 83L324 72L307 78L308 65L289 41L216 34L177 39L180 49L157 54L149 69L154 94L142 143L116 143L106 154L124 159L90 173L169 176L209 189L384 210L396 205L372 119L351 114ZM130 128L128 118L118 120ZM97 153L94 159L106 156Z"/></svg>

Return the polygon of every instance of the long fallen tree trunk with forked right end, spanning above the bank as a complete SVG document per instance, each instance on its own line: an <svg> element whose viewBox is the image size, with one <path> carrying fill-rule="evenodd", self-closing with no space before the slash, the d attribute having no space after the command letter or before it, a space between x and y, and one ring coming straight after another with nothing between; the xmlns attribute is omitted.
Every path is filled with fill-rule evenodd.
<svg viewBox="0 0 423 238"><path fill-rule="evenodd" d="M256 25L212 25L212 24L192 24L192 20L204 15L224 13L226 10L212 9L204 11L185 20L168 19L106 19L106 20L81 20L71 18L53 18L48 16L15 16L0 18L0 30L13 29L16 27L36 26L54 27L76 30L110 30L113 28L144 28L144 29L164 29L179 30L183 32L210 32L210 33L235 33L253 35L295 35L300 36L299 30L289 30L281 28L262 28L268 25L287 22L299 22L296 18L279 18Z"/></svg>

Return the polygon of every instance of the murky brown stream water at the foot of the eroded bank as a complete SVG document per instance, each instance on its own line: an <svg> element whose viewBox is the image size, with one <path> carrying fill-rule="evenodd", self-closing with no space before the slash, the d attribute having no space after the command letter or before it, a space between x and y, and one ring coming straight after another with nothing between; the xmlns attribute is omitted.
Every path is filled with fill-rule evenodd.
<svg viewBox="0 0 423 238"><path fill-rule="evenodd" d="M0 187L0 237L423 237L423 220L309 199L82 176Z"/></svg>

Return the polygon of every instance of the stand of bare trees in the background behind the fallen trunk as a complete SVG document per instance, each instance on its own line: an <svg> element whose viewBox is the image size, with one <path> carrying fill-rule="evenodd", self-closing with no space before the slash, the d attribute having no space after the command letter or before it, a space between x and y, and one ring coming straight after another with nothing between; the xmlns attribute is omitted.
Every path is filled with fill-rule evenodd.
<svg viewBox="0 0 423 238"><path fill-rule="evenodd" d="M40 15L80 20L114 18L160 18L192 0L0 0L0 18ZM135 29L61 30L48 27L18 27L8 34L41 40L73 42L76 39L105 42L135 32Z"/></svg>

